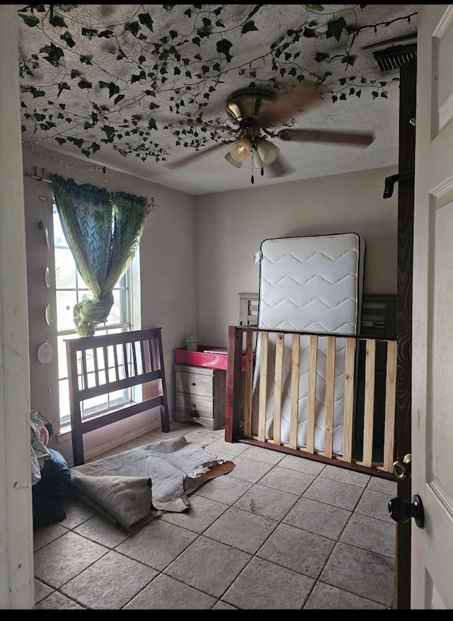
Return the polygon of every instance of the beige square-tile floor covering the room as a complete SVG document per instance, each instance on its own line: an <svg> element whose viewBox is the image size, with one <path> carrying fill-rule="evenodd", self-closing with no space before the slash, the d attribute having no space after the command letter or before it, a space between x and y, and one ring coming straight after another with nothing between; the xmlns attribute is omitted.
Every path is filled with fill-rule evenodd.
<svg viewBox="0 0 453 621"><path fill-rule="evenodd" d="M178 423L112 452L180 434L235 468L133 533L68 498L34 533L36 609L391 609L396 483Z"/></svg>

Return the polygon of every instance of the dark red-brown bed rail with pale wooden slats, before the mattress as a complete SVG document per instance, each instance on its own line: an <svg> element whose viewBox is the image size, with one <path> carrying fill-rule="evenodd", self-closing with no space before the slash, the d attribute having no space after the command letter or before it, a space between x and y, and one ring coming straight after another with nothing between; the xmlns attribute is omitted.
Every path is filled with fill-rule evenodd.
<svg viewBox="0 0 453 621"><path fill-rule="evenodd" d="M273 358L274 353L271 357L268 353L270 335L273 335L275 358ZM305 337L304 343L309 343L309 370L306 395L306 443L298 445L299 360L302 336ZM344 386L341 387L343 389L342 455L333 452L333 408L336 381L338 381L335 375L338 339L341 339L341 343L345 343L345 370L341 380L344 382ZM316 450L314 441L316 372L321 341L323 341L323 351L326 351L323 402L325 407L324 448ZM246 343L246 369L241 372L244 342ZM280 438L282 361L284 343L288 342L291 347L289 440L282 442ZM256 352L253 351L253 343L259 343ZM394 475L391 473L394 463L396 353L396 341L350 334L293 333L268 331L256 326L229 326L225 440L227 442L240 440L291 455L309 457L361 472L373 472L383 477L393 478ZM268 374L270 360L274 365L273 376ZM258 420L255 421L254 426L256 431L253 434L253 375L257 364L260 365L256 386L259 404ZM272 433L266 435L266 407L268 407L266 406L268 396L266 384L268 382L273 382L273 426L271 427Z"/></svg>

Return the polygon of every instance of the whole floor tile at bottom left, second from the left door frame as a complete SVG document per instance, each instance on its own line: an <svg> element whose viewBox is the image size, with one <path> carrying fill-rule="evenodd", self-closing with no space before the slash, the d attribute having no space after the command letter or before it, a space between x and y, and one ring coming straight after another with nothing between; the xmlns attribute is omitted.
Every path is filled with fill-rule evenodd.
<svg viewBox="0 0 453 621"><path fill-rule="evenodd" d="M157 575L142 563L111 551L70 580L61 591L91 610L118 610Z"/></svg>

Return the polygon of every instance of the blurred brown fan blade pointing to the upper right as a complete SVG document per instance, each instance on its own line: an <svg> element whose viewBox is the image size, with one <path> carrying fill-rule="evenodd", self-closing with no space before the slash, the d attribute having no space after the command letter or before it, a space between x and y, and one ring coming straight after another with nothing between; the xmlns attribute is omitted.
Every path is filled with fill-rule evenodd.
<svg viewBox="0 0 453 621"><path fill-rule="evenodd" d="M301 82L294 89L277 96L271 101L263 101L259 120L263 127L284 125L295 115L313 108L322 100L322 91L315 84Z"/></svg>

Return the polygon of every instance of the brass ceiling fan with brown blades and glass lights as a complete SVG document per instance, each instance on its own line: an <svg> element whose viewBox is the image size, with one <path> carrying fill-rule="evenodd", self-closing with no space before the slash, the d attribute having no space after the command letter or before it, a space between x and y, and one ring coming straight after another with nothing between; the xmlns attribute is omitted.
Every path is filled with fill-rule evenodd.
<svg viewBox="0 0 453 621"><path fill-rule="evenodd" d="M348 144L350 146L367 147L374 140L369 132L340 132L336 130L309 130L296 127L276 127L287 125L295 115L316 106L322 99L322 93L314 84L302 82L292 91L277 96L271 89L248 88L234 91L226 101L226 113L234 121L236 134L233 141L222 141L206 147L202 151L185 156L177 161L166 164L169 168L191 164L195 159L205 156L214 149L229 145L225 159L232 166L240 168L249 158L254 166L264 174L268 167L273 176L284 176L292 172L292 168L280 156L280 149L275 142L268 140L281 139L292 142L324 142ZM211 129L231 130L229 126L212 125ZM251 183L253 183L253 174Z"/></svg>

